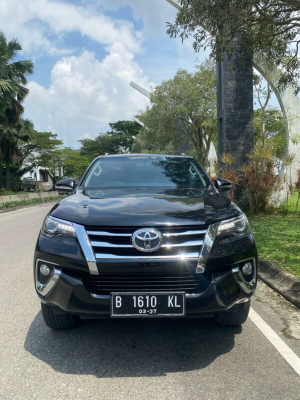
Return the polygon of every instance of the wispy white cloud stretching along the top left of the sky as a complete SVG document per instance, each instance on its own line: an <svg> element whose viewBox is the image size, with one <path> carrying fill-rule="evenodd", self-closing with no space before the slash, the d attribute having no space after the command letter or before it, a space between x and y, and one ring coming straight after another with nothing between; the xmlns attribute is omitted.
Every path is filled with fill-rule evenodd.
<svg viewBox="0 0 300 400"><path fill-rule="evenodd" d="M115 42L129 51L138 51L140 32L121 19L96 13L91 5L76 6L50 0L0 1L1 29L7 36L17 35L26 52L49 54L69 52L60 35L78 31L107 49Z"/></svg>

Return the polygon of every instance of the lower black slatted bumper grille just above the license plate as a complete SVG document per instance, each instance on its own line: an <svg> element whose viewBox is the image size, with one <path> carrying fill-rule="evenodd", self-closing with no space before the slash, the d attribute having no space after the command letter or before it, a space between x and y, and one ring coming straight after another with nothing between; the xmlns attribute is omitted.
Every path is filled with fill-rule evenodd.
<svg viewBox="0 0 300 400"><path fill-rule="evenodd" d="M84 275L85 284L96 294L111 291L185 291L188 293L204 291L211 281L205 274L152 273L128 275Z"/></svg>

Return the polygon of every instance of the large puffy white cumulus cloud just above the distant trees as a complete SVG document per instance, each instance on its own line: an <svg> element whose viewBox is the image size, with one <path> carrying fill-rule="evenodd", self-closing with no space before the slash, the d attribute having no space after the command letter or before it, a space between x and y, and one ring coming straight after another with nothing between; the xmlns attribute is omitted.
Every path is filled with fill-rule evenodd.
<svg viewBox="0 0 300 400"><path fill-rule="evenodd" d="M77 145L76 140L107 130L108 122L131 119L145 106L147 98L129 86L130 80L151 84L122 43L114 43L102 61L89 51L64 57L54 65L48 88L29 82L26 116L36 129L53 130L66 145Z"/></svg>

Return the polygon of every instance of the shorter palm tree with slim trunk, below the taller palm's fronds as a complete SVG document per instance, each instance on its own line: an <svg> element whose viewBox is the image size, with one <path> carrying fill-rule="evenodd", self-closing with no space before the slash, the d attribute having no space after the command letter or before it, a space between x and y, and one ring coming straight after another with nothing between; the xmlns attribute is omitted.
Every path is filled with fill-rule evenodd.
<svg viewBox="0 0 300 400"><path fill-rule="evenodd" d="M12 159L18 162L22 157L19 146L30 141L30 131L33 130L33 123L30 119L19 118L13 127L4 129L3 149L5 153L5 172L6 172L6 190L11 190L10 186L10 162Z"/></svg>

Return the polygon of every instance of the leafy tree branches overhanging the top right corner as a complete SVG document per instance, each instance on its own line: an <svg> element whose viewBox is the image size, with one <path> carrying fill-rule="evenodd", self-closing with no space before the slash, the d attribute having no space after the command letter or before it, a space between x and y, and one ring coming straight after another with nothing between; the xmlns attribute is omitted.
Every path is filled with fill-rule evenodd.
<svg viewBox="0 0 300 400"><path fill-rule="evenodd" d="M167 33L182 40L193 37L193 48L210 47L220 60L232 54L232 39L250 53L259 51L268 66L280 67L279 86L300 90L300 1L297 0L180 0L181 9Z"/></svg>

